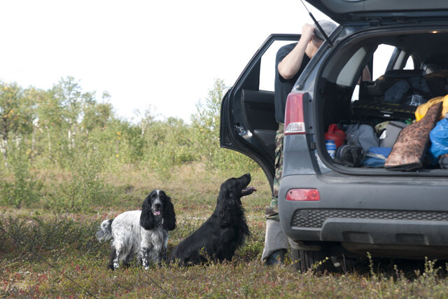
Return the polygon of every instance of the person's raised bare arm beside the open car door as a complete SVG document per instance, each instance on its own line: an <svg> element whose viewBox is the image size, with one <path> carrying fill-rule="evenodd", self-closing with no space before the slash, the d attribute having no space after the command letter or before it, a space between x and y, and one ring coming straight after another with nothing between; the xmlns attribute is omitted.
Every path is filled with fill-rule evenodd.
<svg viewBox="0 0 448 299"><path fill-rule="evenodd" d="M278 70L282 78L286 80L293 78L293 76L297 74L297 71L299 71L307 45L313 38L313 31L314 25L303 25L302 36L300 36L299 42L279 63Z"/></svg>

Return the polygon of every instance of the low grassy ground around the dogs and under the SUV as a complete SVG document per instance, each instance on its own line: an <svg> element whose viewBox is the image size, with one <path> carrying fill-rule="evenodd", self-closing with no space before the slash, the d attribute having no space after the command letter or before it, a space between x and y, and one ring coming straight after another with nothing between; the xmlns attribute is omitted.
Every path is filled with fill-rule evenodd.
<svg viewBox="0 0 448 299"><path fill-rule="evenodd" d="M251 237L230 263L194 267L138 265L106 270L109 243L94 237L97 225L123 211L138 209L153 188L172 197L178 227L169 250L211 214L221 183L243 173L210 172L202 164L174 169L171 179L128 167L104 178L113 196L82 211L52 209L42 200L32 208L0 209L0 297L96 298L446 298L446 268L426 263L395 264L365 258L347 273L296 272L260 262L264 209L270 191L261 171L252 172L258 191L244 197ZM53 174L56 186L63 174ZM44 189L50 189L44 182Z"/></svg>

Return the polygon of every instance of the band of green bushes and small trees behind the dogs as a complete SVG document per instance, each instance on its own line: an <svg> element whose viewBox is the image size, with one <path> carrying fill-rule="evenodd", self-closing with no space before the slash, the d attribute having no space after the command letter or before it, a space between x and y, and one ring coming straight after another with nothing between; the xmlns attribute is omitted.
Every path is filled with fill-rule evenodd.
<svg viewBox="0 0 448 299"><path fill-rule="evenodd" d="M8 134L0 132L6 156L2 204L30 207L40 200L57 211L87 211L123 196L116 193L120 186L104 183L104 175L126 167L148 169L162 179L175 174L176 167L195 163L206 165L207 172L226 174L258 169L253 160L219 146L221 99L227 90L222 80L198 102L191 123L157 119L151 109L139 119L119 119L110 104L98 103L94 93L83 92L71 77L50 90L14 87L14 95L20 95L15 103L22 106L10 108L6 98L0 101L0 114L9 124ZM26 125L19 121L22 114Z"/></svg>

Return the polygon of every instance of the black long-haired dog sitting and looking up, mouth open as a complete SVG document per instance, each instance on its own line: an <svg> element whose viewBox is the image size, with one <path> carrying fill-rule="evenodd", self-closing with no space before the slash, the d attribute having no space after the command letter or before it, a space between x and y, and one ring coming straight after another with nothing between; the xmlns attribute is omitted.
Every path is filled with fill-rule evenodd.
<svg viewBox="0 0 448 299"><path fill-rule="evenodd" d="M169 256L169 263L194 265L212 260L232 260L232 256L249 235L241 207L241 197L249 195L255 188L249 187L251 174L237 179L228 179L221 185L216 209L201 227L184 239Z"/></svg>

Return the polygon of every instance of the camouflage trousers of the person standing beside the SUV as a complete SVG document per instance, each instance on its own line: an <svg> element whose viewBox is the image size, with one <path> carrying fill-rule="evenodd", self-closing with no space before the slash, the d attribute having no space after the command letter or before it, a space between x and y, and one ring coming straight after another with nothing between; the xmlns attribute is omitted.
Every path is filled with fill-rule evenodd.
<svg viewBox="0 0 448 299"><path fill-rule="evenodd" d="M279 124L279 130L275 135L275 175L272 187L271 204L266 207L266 219L279 221L279 186L281 173L283 172L283 124Z"/></svg>

